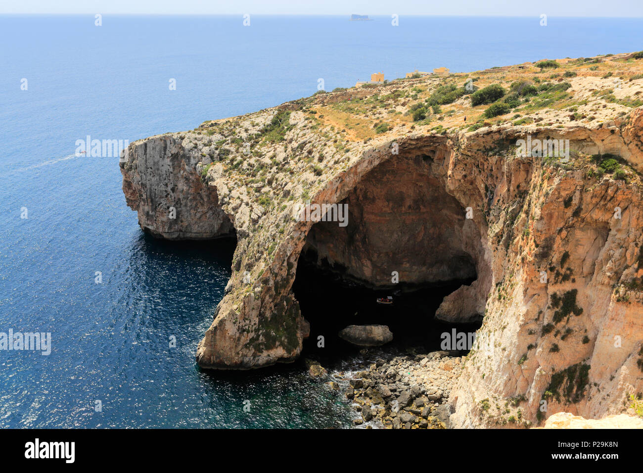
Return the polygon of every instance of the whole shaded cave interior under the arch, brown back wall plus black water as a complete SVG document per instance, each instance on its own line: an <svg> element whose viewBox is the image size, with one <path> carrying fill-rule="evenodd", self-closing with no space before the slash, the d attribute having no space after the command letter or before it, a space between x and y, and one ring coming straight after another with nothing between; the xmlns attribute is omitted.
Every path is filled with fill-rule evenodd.
<svg viewBox="0 0 643 473"><path fill-rule="evenodd" d="M340 202L347 206L347 225L312 225L293 284L311 324L305 356L359 351L338 337L349 325L386 325L394 337L386 346L426 352L442 349L442 334L454 328L480 328L482 317L471 323L435 319L444 297L476 281L482 251L475 224L431 165L423 154L377 165ZM394 272L399 281L392 280ZM386 296L394 303L377 303Z"/></svg>

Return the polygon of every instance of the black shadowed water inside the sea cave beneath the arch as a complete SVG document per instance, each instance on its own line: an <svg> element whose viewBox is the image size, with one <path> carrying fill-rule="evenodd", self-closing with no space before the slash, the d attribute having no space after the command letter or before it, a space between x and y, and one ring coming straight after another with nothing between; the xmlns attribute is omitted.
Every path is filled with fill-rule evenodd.
<svg viewBox="0 0 643 473"><path fill-rule="evenodd" d="M316 252L311 248L300 255L293 293L303 317L311 325L310 336L303 341L304 357L312 356L332 364L358 353L365 347L350 344L338 336L339 331L349 325L386 325L394 338L383 349L399 352L417 349L418 353L444 348L444 334L451 337L453 329L468 334L482 326L482 319L453 323L434 318L446 295L463 284L468 286L476 277L439 283L399 283L392 288L346 279L341 277L344 269L326 261L318 264ZM377 304L377 298L388 295L394 298L391 306ZM323 347L318 346L320 336L324 340ZM460 350L458 355L467 352Z"/></svg>

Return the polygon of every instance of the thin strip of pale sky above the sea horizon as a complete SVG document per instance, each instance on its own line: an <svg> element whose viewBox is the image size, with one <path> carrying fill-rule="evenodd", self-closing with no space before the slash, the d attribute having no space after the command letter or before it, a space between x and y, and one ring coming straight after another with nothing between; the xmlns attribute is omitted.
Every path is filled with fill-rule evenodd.
<svg viewBox="0 0 643 473"><path fill-rule="evenodd" d="M0 14L643 17L643 0L0 0Z"/></svg>

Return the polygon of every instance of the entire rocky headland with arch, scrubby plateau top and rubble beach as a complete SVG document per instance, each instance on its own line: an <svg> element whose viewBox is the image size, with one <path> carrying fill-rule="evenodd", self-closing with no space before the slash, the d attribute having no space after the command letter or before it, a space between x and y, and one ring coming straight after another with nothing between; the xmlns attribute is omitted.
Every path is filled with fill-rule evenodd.
<svg viewBox="0 0 643 473"><path fill-rule="evenodd" d="M351 381L386 426L534 427L641 398L643 52L321 91L138 140L120 167L145 232L237 239L203 368L300 356L308 251L374 288L473 279L435 317L482 320L484 346ZM302 218L315 204L348 225Z"/></svg>

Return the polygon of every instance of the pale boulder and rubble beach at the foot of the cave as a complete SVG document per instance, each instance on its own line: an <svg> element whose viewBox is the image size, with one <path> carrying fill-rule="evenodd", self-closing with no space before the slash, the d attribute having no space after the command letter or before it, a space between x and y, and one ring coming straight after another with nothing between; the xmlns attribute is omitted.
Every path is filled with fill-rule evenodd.
<svg viewBox="0 0 643 473"><path fill-rule="evenodd" d="M361 351L368 355L367 349ZM353 425L379 429L448 429L451 387L462 372L464 357L433 351L400 355L371 351L375 361L351 370L327 370L307 360L309 375L341 391L356 413Z"/></svg>

